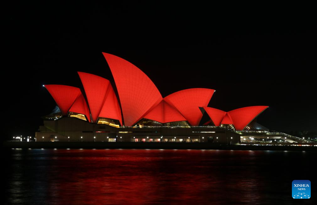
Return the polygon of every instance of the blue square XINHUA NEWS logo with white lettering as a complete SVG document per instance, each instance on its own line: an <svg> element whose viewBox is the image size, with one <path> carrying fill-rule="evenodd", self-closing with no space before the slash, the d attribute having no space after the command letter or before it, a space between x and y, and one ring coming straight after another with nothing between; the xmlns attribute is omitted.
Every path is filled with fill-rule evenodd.
<svg viewBox="0 0 317 205"><path fill-rule="evenodd" d="M310 190L309 180L294 180L292 182L293 199L310 199Z"/></svg>

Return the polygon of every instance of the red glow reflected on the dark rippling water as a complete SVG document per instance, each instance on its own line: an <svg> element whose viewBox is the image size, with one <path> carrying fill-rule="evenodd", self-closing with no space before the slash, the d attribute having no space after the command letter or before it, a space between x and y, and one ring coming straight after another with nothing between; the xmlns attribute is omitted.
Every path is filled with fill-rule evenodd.
<svg viewBox="0 0 317 205"><path fill-rule="evenodd" d="M220 152L58 150L50 167L47 195L56 204L258 201L259 177L238 162L228 163L237 160L233 155L237 151ZM249 151L239 151L239 160L249 157Z"/></svg>

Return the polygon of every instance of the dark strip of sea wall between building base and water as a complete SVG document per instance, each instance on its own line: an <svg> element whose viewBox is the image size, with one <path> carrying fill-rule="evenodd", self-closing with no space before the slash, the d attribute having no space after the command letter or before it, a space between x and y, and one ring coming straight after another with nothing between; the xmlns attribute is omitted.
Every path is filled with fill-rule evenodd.
<svg viewBox="0 0 317 205"><path fill-rule="evenodd" d="M270 150L270 151L317 151L317 146L278 145L225 145L216 143L175 142L3 142L3 148L31 149L190 149L190 150Z"/></svg>

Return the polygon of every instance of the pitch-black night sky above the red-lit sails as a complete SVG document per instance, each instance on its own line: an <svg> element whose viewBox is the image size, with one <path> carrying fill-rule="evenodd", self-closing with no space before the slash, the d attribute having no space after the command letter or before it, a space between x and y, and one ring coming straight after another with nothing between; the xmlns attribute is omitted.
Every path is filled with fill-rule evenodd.
<svg viewBox="0 0 317 205"><path fill-rule="evenodd" d="M159 18L141 22L150 11L124 18L122 14L133 14L128 4L8 5L8 11L3 56L7 79L2 81L7 138L34 136L41 116L54 108L43 84L81 87L77 71L113 83L101 52L139 67L163 97L187 88L211 88L216 90L211 107L230 111L268 105L258 122L269 129L317 131L312 25L255 29L240 26L236 18L230 25L223 18L215 25L207 15L209 26L202 23L204 30L198 31L200 25L191 27L178 23L180 19L168 26Z"/></svg>

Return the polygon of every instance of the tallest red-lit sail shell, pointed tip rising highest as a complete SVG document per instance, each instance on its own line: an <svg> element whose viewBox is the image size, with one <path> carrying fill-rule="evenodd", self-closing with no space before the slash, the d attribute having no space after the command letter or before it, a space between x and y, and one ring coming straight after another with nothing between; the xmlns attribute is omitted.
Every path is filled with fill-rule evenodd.
<svg viewBox="0 0 317 205"><path fill-rule="evenodd" d="M118 90L124 123L132 126L162 101L152 80L132 63L103 53Z"/></svg>

